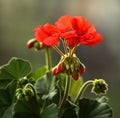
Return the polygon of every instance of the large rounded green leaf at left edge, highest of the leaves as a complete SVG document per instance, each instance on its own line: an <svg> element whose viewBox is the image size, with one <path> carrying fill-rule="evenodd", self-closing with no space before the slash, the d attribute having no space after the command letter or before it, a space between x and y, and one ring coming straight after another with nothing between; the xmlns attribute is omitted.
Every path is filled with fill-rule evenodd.
<svg viewBox="0 0 120 118"><path fill-rule="evenodd" d="M0 67L0 88L5 88L12 80L27 76L31 71L30 63L19 58L12 58L8 64Z"/></svg>

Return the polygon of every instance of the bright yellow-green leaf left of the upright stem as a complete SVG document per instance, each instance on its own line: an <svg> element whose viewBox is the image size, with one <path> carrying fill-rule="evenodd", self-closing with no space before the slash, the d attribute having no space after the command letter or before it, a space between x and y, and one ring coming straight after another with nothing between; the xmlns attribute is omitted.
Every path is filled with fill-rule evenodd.
<svg viewBox="0 0 120 118"><path fill-rule="evenodd" d="M46 66L43 66L39 69L37 69L35 72L32 72L29 77L33 77L35 80L38 80L39 78L41 78L43 75L45 75L47 71Z"/></svg>

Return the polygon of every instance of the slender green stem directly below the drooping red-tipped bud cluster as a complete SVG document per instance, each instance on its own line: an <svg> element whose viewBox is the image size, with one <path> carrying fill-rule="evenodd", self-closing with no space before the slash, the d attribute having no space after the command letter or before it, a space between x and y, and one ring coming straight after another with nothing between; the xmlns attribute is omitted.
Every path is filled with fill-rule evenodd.
<svg viewBox="0 0 120 118"><path fill-rule="evenodd" d="M63 98L61 100L60 108L66 102L66 100L68 98L68 94L69 94L69 90L70 90L70 84L71 84L71 78L70 78L70 75L68 75L67 78L66 78L65 91L64 91Z"/></svg>

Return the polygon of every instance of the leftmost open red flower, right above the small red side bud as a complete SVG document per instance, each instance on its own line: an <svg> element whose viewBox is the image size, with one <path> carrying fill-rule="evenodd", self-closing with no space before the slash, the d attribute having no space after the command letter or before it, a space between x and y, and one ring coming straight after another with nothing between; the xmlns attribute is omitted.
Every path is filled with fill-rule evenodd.
<svg viewBox="0 0 120 118"><path fill-rule="evenodd" d="M49 23L38 26L35 30L35 37L38 42L46 46L55 46L59 42L59 30Z"/></svg>

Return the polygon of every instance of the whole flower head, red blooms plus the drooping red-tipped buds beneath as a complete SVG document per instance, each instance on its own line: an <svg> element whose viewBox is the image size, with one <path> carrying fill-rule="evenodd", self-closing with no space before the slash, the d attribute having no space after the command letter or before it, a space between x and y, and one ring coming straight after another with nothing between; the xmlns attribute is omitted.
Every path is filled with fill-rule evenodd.
<svg viewBox="0 0 120 118"><path fill-rule="evenodd" d="M75 80L85 71L84 64L75 55L76 48L80 44L94 46L102 41L102 35L82 16L62 16L54 24L38 26L34 33L35 39L28 42L28 47L33 47L36 42L40 47L53 47L61 55L53 75L66 73ZM65 53L57 47L61 41Z"/></svg>

